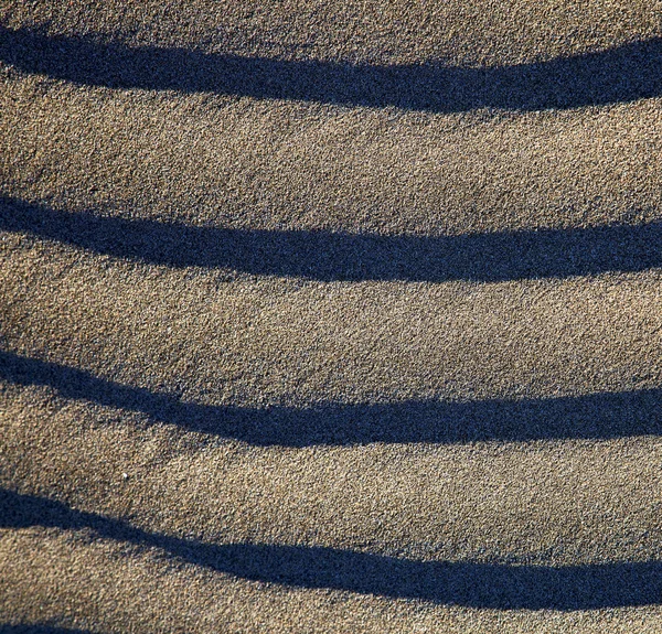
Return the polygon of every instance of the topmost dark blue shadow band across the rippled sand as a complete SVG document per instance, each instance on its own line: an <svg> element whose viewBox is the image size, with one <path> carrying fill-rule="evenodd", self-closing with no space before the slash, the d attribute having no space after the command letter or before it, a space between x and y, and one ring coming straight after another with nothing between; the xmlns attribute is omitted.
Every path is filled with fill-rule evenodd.
<svg viewBox="0 0 662 634"><path fill-rule="evenodd" d="M457 112L577 108L662 94L662 39L516 66L372 66L130 47L0 26L0 60L29 73L110 88L211 92Z"/></svg>

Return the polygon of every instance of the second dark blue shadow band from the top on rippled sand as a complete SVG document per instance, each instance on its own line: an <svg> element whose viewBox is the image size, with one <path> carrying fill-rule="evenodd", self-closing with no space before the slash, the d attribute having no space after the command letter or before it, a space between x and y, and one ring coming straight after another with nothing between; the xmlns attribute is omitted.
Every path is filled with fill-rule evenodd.
<svg viewBox="0 0 662 634"><path fill-rule="evenodd" d="M562 278L662 266L662 223L460 236L194 227L102 217L0 196L0 230L170 267L321 281Z"/></svg>

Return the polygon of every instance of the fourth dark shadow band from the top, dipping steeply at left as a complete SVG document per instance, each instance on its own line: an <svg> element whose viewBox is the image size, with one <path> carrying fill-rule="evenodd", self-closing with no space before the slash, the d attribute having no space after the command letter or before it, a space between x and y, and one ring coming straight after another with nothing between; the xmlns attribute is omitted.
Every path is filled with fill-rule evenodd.
<svg viewBox="0 0 662 634"><path fill-rule="evenodd" d="M662 602L662 562L545 567L416 561L353 550L210 545L148 533L60 502L0 490L0 527L90 529L253 581L498 610L597 610Z"/></svg>

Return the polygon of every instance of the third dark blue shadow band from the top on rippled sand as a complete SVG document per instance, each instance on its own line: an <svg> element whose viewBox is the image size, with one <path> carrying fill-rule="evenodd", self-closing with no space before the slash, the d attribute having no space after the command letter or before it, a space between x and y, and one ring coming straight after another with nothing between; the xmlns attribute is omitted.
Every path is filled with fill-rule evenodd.
<svg viewBox="0 0 662 634"><path fill-rule="evenodd" d="M64 398L142 412L152 421L255 445L466 443L662 433L662 389L522 400L253 409L182 402L171 395L119 385L81 369L2 351L0 379L49 386Z"/></svg>

